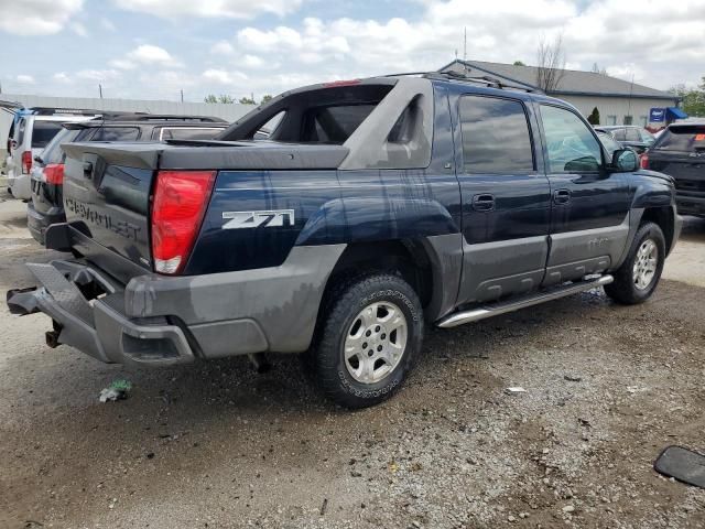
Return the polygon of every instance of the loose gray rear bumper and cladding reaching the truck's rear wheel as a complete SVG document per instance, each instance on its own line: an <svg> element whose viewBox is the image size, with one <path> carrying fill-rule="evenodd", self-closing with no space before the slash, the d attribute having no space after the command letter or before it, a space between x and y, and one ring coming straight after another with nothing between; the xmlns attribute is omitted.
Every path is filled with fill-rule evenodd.
<svg viewBox="0 0 705 529"><path fill-rule="evenodd" d="M29 264L40 288L11 292L8 303L15 313L47 314L58 343L107 363L300 353L311 344L326 281L345 246L294 247L280 267L177 278L148 273L127 285L88 263Z"/></svg>

